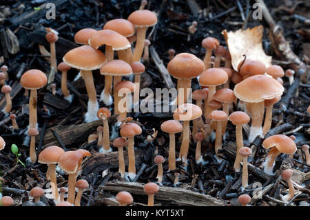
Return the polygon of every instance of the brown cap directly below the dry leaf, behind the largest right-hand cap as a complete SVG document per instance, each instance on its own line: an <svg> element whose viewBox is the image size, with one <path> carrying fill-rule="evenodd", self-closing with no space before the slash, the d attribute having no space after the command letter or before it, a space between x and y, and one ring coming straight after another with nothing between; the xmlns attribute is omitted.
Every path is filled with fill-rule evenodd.
<svg viewBox="0 0 310 220"><path fill-rule="evenodd" d="M265 64L262 63L261 61L246 59L243 65L241 66L242 62L243 61L240 61L238 65L239 73L242 74L242 76L246 75L254 76L257 74L265 74L267 70Z"/></svg>

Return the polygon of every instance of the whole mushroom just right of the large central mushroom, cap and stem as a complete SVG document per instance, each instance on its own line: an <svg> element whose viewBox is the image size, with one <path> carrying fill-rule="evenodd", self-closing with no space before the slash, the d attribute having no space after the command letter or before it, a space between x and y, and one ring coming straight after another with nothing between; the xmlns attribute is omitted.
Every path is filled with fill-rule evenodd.
<svg viewBox="0 0 310 220"><path fill-rule="evenodd" d="M214 94L216 93L216 86L220 86L223 83L226 83L228 80L227 73L220 68L209 68L205 70L203 74L199 77L200 86L207 86L208 97L207 103L205 103L205 110L203 115L206 119L209 119L209 114L211 112L211 108L208 106L209 102L214 99Z"/></svg>

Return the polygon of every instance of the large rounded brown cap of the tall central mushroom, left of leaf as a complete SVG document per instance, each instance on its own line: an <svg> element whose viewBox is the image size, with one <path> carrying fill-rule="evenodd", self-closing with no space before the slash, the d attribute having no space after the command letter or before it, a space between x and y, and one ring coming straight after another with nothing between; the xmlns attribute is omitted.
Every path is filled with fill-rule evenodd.
<svg viewBox="0 0 310 220"><path fill-rule="evenodd" d="M205 70L205 64L194 54L183 52L169 61L167 70L176 79L192 79Z"/></svg>

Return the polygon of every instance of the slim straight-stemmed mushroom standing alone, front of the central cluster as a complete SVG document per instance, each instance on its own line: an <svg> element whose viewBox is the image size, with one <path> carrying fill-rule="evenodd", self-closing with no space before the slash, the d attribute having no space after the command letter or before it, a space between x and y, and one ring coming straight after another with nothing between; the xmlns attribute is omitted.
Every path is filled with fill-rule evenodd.
<svg viewBox="0 0 310 220"><path fill-rule="evenodd" d="M161 124L161 130L169 133L169 170L176 169L176 138L175 134L182 132L183 126L176 120L168 120Z"/></svg>

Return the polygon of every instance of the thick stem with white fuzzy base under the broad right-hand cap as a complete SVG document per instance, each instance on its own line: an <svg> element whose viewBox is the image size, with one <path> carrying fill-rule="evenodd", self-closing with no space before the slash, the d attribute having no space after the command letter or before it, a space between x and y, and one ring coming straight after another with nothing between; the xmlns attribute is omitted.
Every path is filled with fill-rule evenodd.
<svg viewBox="0 0 310 220"><path fill-rule="evenodd" d="M250 103L252 123L249 132L249 141L254 141L256 136L262 134L262 121L264 119L265 101Z"/></svg>

